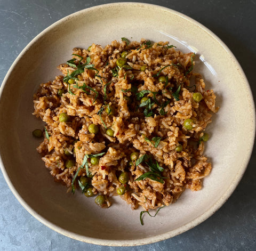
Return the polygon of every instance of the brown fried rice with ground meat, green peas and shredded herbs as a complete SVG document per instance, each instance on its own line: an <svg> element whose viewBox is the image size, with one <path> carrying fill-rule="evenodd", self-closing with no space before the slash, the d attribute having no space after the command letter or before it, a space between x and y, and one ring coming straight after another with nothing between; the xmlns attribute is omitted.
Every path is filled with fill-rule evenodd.
<svg viewBox="0 0 256 251"><path fill-rule="evenodd" d="M46 123L37 151L55 181L101 207L120 196L145 211L201 189L212 168L205 128L218 107L194 58L145 39L74 48L34 95Z"/></svg>

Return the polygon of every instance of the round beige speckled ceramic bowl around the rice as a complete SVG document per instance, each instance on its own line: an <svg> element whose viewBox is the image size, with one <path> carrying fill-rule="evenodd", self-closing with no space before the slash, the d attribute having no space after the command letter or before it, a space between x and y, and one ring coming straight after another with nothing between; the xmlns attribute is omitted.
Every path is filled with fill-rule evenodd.
<svg viewBox="0 0 256 251"><path fill-rule="evenodd" d="M170 41L183 52L196 52L195 71L218 95L221 107L208 131L205 155L213 164L201 191L186 191L155 218L115 198L101 209L93 198L53 181L36 152L31 132L43 127L33 112L39 84L59 75L73 47L106 45L127 37ZM1 86L1 169L15 197L30 214L68 237L99 245L143 245L173 237L211 216L231 195L249 161L255 132L252 93L243 70L227 46L210 30L164 7L140 3L107 4L85 9L54 23L21 52Z"/></svg>

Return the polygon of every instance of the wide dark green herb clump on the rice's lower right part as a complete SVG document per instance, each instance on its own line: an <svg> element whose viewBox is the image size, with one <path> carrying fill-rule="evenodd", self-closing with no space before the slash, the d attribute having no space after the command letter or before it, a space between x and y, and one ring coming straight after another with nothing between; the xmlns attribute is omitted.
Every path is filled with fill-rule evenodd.
<svg viewBox="0 0 256 251"><path fill-rule="evenodd" d="M164 171L164 168L159 166L157 161L154 163L153 159L148 155L142 155L139 159L137 159L137 161L135 162L135 165L138 166L143 161L150 167L151 171L140 175L134 181L141 181L141 180L145 180L146 178L149 178L151 180L158 181L163 184L164 183L163 179L167 179L166 177L161 176L161 172Z"/></svg>

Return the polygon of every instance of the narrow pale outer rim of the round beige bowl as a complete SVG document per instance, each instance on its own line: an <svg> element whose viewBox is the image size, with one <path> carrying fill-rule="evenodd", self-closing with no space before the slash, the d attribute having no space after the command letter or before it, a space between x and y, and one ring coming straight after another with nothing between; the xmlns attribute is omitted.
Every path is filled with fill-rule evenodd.
<svg viewBox="0 0 256 251"><path fill-rule="evenodd" d="M243 78L244 84L247 87L248 97L250 98L251 105L252 105L252 107L251 107L252 121L253 121L253 124L255 125L255 106L254 106L254 100L253 100L253 95L252 95L252 91L251 91L251 88L250 88L250 84L249 84L249 82L248 82L248 80L247 80L247 78L244 74L244 71L243 71L241 65L239 64L239 62L235 58L234 54L230 51L228 46L225 43L223 43L221 41L221 39L217 35L215 35L210 29L206 28L204 25L202 25L198 21L194 20L193 18L188 17L185 14L182 14L178 11L172 10L168 7L164 7L164 6L160 6L160 5L156 5L156 4L139 3L139 2L118 2L118 3L108 3L108 4L92 6L92 7L74 12L70 15L67 15L66 17L61 18L60 20L54 22L49 27L45 28L43 31L41 31L41 33L39 33L35 38L33 38L26 45L25 48L23 48L23 50L20 52L18 57L12 63L12 66L7 71L7 74L6 74L6 76L3 80L3 83L1 85L1 87L0 87L0 99L1 99L1 96L3 94L4 86L7 83L7 80L9 79L9 77L12 73L12 70L15 67L17 67L20 59L23 56L23 54L25 54L30 49L30 47L32 47L33 44L35 42L37 42L39 39L41 39L41 37L43 37L46 33L51 31L53 28L59 26L62 22L68 21L69 19L75 17L76 15L86 14L86 12L93 11L93 10L96 10L96 9L104 9L104 8L108 8L108 7L118 7L118 6L119 7L124 7L124 6L128 6L128 5L131 6L131 7L133 6L134 8L147 6L147 7L158 9L160 11L162 10L162 11L169 12L172 15L176 15L178 17L181 17L181 18L189 21L190 23L193 23L198 28L203 29L204 31L206 31L207 34L209 34L213 39L215 39L227 51L229 56L233 59L234 64L236 64L237 68L239 69L239 72L241 74L241 78ZM255 137L255 126L253 127L252 134ZM150 236L150 237L146 237L146 238L143 238L143 239L133 239L133 240L98 239L98 238L85 237L85 236L82 236L81 234L77 234L77 233L74 233L74 232L70 232L66 229L63 229L60 226L51 223L50 221L46 220L44 217L39 215L37 212L35 212L35 210L33 208L31 208L26 203L25 200L23 200L23 198L19 195L19 193L15 189L14 185L11 182L11 179L10 179L9 175L7 174L7 171L5 170L1 153L0 153L0 168L1 168L1 171L3 173L4 179L7 183L7 185L9 186L10 190L12 191L13 195L17 198L19 203L32 216L34 216L39 222L43 223L48 228L50 228L50 229L52 229L52 230L54 230L54 231L56 231L60 234L63 234L64 236L67 236L69 238L73 238L73 239L83 241L83 242L87 242L87 243L90 243L90 244L96 244L96 245L102 245L102 246L139 246L139 245L151 244L151 243L154 243L154 242L157 242L157 241L162 241L162 240L169 239L169 238L172 238L174 236L177 236L180 233L186 232L189 229L194 228L196 225L202 223L207 218L209 218L211 215L213 215L228 200L228 198L231 196L231 194L234 192L235 188L237 187L238 183L241 181L241 179L243 177L243 174L244 174L244 172L247 168L247 165L249 164L249 161L250 161L250 157L251 157L252 150L253 150L253 145L254 145L254 137L250 142L251 143L251 145L250 145L251 151L247 153L247 156L245 156L244 161L243 161L243 165L241 165L241 167L238 169L238 172L237 172L234 180L230 184L229 188L225 191L225 193L223 193L223 195L220 197L220 199L211 208L207 209L202 215L194 218L193 220L189 221L185 225L180 226L178 229L174 229L174 230L162 233L162 234L157 234L155 236Z"/></svg>

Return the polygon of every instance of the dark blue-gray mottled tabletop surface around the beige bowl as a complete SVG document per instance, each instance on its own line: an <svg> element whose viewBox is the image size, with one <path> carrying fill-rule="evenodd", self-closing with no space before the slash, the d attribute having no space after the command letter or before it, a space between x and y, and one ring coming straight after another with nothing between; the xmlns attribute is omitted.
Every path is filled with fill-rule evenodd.
<svg viewBox="0 0 256 251"><path fill-rule="evenodd" d="M121 1L0 0L0 83L22 49L46 27L73 12L114 2ZM133 2L169 7L212 30L241 64L255 102L256 0ZM227 147L231 143L232 139L227 142ZM86 244L47 228L19 204L0 173L0 250L256 250L255 168L254 146L243 179L217 213L172 239L123 248Z"/></svg>

